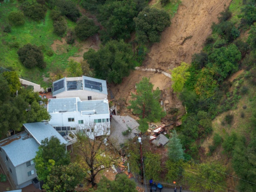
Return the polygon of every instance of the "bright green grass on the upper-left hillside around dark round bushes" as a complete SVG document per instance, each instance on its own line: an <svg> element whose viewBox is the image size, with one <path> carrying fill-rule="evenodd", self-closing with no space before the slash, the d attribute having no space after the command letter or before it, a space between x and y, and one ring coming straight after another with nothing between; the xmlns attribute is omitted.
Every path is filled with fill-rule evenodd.
<svg viewBox="0 0 256 192"><path fill-rule="evenodd" d="M0 6L0 67L12 68L18 72L19 76L23 76L34 82L47 86L44 82L44 77L49 77L49 72L63 71L68 63L70 56L75 56L78 52L79 46L65 45L64 52L54 53L49 57L46 52L51 48L54 40L61 40L59 36L53 33L53 21L50 19L50 10L47 10L44 21L36 22L28 17L25 17L25 24L23 26L12 26L11 33L4 33L4 26L8 25L7 16L9 12L18 10L20 3L17 0L11 0L7 3L1 3ZM74 29L76 23L67 19L69 28ZM17 51L18 49L10 48L10 44L17 42L20 47L27 43L41 46L44 52L44 59L46 61L46 68L26 68L20 63Z"/></svg>

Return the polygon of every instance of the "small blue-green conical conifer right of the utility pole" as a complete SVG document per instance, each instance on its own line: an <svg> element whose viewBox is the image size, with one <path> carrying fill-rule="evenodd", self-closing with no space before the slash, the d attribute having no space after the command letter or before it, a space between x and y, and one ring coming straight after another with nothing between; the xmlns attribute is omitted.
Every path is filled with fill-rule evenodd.
<svg viewBox="0 0 256 192"><path fill-rule="evenodd" d="M180 139L178 139L175 129L173 130L172 138L169 139L168 155L174 162L180 159L184 160L184 150L182 149L182 144L180 143Z"/></svg>

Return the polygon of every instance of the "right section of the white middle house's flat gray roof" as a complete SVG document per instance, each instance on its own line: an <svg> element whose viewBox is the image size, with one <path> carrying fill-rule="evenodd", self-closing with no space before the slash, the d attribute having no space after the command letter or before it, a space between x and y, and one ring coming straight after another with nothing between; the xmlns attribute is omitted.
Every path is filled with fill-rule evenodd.
<svg viewBox="0 0 256 192"><path fill-rule="evenodd" d="M109 114L108 100L104 101L105 100L79 101L77 102L77 109L82 115Z"/></svg>

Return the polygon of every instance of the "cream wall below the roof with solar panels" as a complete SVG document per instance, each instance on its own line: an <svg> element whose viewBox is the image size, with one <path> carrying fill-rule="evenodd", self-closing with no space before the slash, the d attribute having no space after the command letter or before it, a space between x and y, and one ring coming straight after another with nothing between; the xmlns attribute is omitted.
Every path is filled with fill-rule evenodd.
<svg viewBox="0 0 256 192"><path fill-rule="evenodd" d="M87 101L88 96L91 96L91 100L103 100L108 98L106 94L87 90L64 91L55 96L56 98L79 97L81 101Z"/></svg>

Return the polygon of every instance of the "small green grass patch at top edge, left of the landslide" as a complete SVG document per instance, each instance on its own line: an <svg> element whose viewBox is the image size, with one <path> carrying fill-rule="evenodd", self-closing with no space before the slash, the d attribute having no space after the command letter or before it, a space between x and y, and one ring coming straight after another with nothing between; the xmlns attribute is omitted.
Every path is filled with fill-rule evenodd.
<svg viewBox="0 0 256 192"><path fill-rule="evenodd" d="M170 3L167 3L163 7L160 0L157 0L153 5L151 5L151 7L164 9L166 12L170 14L171 18L173 18L174 15L177 13L180 4L181 4L180 0L170 0Z"/></svg>

